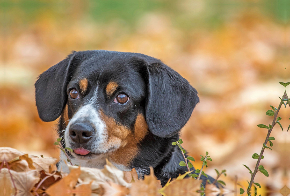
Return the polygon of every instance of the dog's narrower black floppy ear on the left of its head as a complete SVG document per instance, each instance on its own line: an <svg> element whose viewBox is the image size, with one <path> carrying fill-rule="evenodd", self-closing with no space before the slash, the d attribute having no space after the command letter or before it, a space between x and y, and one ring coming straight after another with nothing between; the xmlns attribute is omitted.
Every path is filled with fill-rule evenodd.
<svg viewBox="0 0 290 196"><path fill-rule="evenodd" d="M75 52L39 75L35 82L35 101L41 120L56 120L67 102L66 87L73 74L70 66Z"/></svg>

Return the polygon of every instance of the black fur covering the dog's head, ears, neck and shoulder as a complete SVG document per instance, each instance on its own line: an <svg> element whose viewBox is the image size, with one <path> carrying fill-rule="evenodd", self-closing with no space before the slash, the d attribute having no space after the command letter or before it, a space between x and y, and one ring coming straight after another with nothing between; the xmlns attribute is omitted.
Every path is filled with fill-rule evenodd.
<svg viewBox="0 0 290 196"><path fill-rule="evenodd" d="M88 79L87 92L79 100L68 99L69 90L78 89L77 80L82 77ZM112 97L107 97L105 86L111 80L117 81L119 88ZM54 121L67 104L68 116L72 118L97 88L102 90L96 97L96 107L118 123L133 129L139 113L146 118L149 132L138 144L139 151L131 168L142 168L143 174L149 174L149 166L152 166L162 185L170 177L175 178L186 171L186 167L179 166L184 160L180 149L171 145L179 139L181 128L199 102L197 91L186 79L162 61L140 53L73 52L39 75L35 83L39 117L43 121ZM128 104L112 103L122 92L129 95ZM64 120L60 118L58 131L64 129ZM64 138L62 133L60 136Z"/></svg>

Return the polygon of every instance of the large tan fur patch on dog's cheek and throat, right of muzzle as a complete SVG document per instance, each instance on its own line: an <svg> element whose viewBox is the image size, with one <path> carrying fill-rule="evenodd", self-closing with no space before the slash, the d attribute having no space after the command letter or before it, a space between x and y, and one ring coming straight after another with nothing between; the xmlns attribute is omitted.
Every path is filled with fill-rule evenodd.
<svg viewBox="0 0 290 196"><path fill-rule="evenodd" d="M137 153L137 144L146 136L148 125L142 114L138 114L134 130L131 131L124 125L120 125L115 119L101 112L101 118L106 123L108 142L104 146L109 150L110 158L116 164L129 166Z"/></svg>

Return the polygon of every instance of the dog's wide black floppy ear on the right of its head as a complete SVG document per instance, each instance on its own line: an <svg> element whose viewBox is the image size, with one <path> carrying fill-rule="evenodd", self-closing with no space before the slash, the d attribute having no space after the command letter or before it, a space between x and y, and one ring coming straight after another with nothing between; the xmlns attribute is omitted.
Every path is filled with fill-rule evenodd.
<svg viewBox="0 0 290 196"><path fill-rule="evenodd" d="M140 64L147 84L145 112L149 130L160 137L177 134L199 102L197 91L159 60L148 63L139 59Z"/></svg>

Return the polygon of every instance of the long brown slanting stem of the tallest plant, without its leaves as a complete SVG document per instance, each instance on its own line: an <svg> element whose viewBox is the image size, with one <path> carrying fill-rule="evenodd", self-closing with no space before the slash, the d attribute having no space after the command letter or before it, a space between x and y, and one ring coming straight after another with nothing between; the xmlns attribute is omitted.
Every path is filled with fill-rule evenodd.
<svg viewBox="0 0 290 196"><path fill-rule="evenodd" d="M283 97L282 97L282 100L283 100L284 98L287 98L287 99L288 99L288 96L287 96L286 90L285 90L285 92L284 92L284 95L283 95ZM268 140L269 140L269 136L270 136L270 134L271 134L271 131L272 131L273 127L276 125L276 119L277 119L277 116L278 116L279 110L280 110L282 104L284 104L282 100L281 100L281 102L280 102L280 104L279 104L279 107L278 107L277 111L276 111L275 114L274 114L274 119L273 119L273 122L272 122L272 128L270 128L270 129L268 130L268 134L267 134L266 140L265 140L265 142L264 142L265 145L267 145ZM288 99L288 100L289 100L289 99ZM287 101L287 102L288 102L288 101ZM288 103L289 103L289 102L288 102ZM290 106L290 103L289 103L289 106ZM256 167L255 167L255 170L253 171L253 174L252 174L252 176L251 176L250 184L249 184L248 189L247 189L247 194L248 194L248 195L250 195L251 187L252 187L252 185L253 185L255 175L256 175L256 173L258 172L258 167L259 167L259 164L260 164L260 161L261 161L262 155L263 155L263 153L264 153L264 150L265 150L265 147L263 146L263 147L262 147L262 150L261 150L261 153L260 153L260 155L259 155L259 158L258 158L258 160L257 160L257 164L256 164Z"/></svg>

